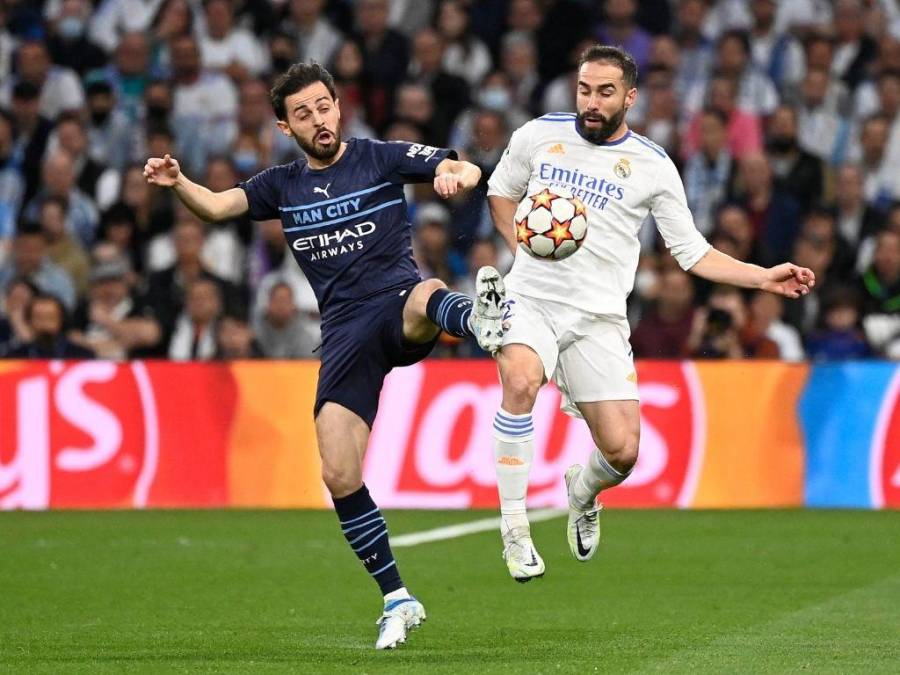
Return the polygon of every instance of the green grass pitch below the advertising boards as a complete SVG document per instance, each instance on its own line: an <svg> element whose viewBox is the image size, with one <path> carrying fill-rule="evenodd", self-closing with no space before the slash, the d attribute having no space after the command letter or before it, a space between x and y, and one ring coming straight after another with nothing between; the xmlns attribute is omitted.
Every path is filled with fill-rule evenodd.
<svg viewBox="0 0 900 675"><path fill-rule="evenodd" d="M482 512L392 512L393 534ZM329 512L0 514L0 671L897 673L900 513L615 511L565 520L514 583L486 532L398 550L429 620L373 648L381 598Z"/></svg>

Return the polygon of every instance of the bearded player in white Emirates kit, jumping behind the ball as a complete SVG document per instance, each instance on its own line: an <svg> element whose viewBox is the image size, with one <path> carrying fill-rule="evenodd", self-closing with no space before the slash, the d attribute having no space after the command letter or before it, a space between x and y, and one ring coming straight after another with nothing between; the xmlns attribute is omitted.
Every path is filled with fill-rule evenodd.
<svg viewBox="0 0 900 675"><path fill-rule="evenodd" d="M505 279L508 326L496 353L503 400L494 418L494 456L503 557L517 581L544 573L525 511L538 389L555 381L563 410L585 420L597 446L584 466L565 474L567 538L577 560L589 560L600 542L597 495L628 478L637 461L640 410L625 301L648 213L679 265L704 279L789 298L815 284L809 269L791 263L765 269L706 242L675 165L625 122L636 81L627 52L588 48L578 71L577 114L550 113L519 128L489 182L494 224L514 253L513 215L526 195L544 188L574 194L588 213L581 249L561 261L519 253Z"/></svg>

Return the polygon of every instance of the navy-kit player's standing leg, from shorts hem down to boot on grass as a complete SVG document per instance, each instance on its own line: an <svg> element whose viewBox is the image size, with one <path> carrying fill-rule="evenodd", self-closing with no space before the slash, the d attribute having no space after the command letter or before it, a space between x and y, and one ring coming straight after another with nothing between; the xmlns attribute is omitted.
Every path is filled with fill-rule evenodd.
<svg viewBox="0 0 900 675"><path fill-rule="evenodd" d="M425 608L410 596L400 580L387 525L363 484L362 463L369 427L356 413L329 401L316 416L316 437L322 480L334 500L341 530L384 595L375 647L397 647L406 641L410 629L425 620Z"/></svg>

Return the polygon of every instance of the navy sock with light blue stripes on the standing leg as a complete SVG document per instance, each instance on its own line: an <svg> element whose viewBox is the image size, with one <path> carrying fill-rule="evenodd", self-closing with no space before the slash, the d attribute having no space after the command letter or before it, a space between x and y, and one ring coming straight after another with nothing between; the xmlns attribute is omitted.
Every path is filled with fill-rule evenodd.
<svg viewBox="0 0 900 675"><path fill-rule="evenodd" d="M337 511L347 543L362 561L366 572L378 582L381 594L387 595L402 588L400 572L388 542L387 525L366 486L335 499L334 510Z"/></svg>

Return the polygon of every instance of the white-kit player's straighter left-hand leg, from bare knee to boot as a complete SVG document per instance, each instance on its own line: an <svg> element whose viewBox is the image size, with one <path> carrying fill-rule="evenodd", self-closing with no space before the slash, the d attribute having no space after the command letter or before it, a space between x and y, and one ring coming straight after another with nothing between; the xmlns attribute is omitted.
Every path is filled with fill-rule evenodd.
<svg viewBox="0 0 900 675"><path fill-rule="evenodd" d="M531 347L505 345L497 354L503 400L494 418L494 468L500 493L503 559L513 579L543 576L544 561L531 540L525 498L534 455L531 410L544 382L544 366Z"/></svg>

